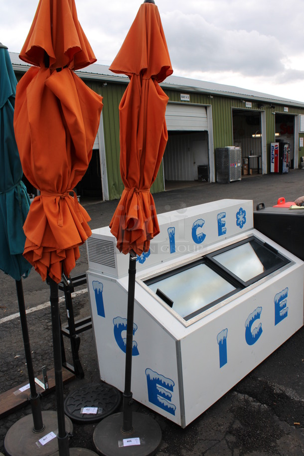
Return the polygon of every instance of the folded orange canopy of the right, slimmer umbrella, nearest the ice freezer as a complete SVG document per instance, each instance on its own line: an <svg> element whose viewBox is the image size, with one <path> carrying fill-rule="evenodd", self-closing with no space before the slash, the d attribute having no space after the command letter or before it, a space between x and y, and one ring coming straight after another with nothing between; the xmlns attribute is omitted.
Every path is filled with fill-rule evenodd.
<svg viewBox="0 0 304 456"><path fill-rule="evenodd" d="M125 189L110 223L117 248L148 252L159 233L150 188L167 143L168 97L158 83L172 74L157 6L143 3L110 70L129 76L119 106L120 169Z"/></svg>

